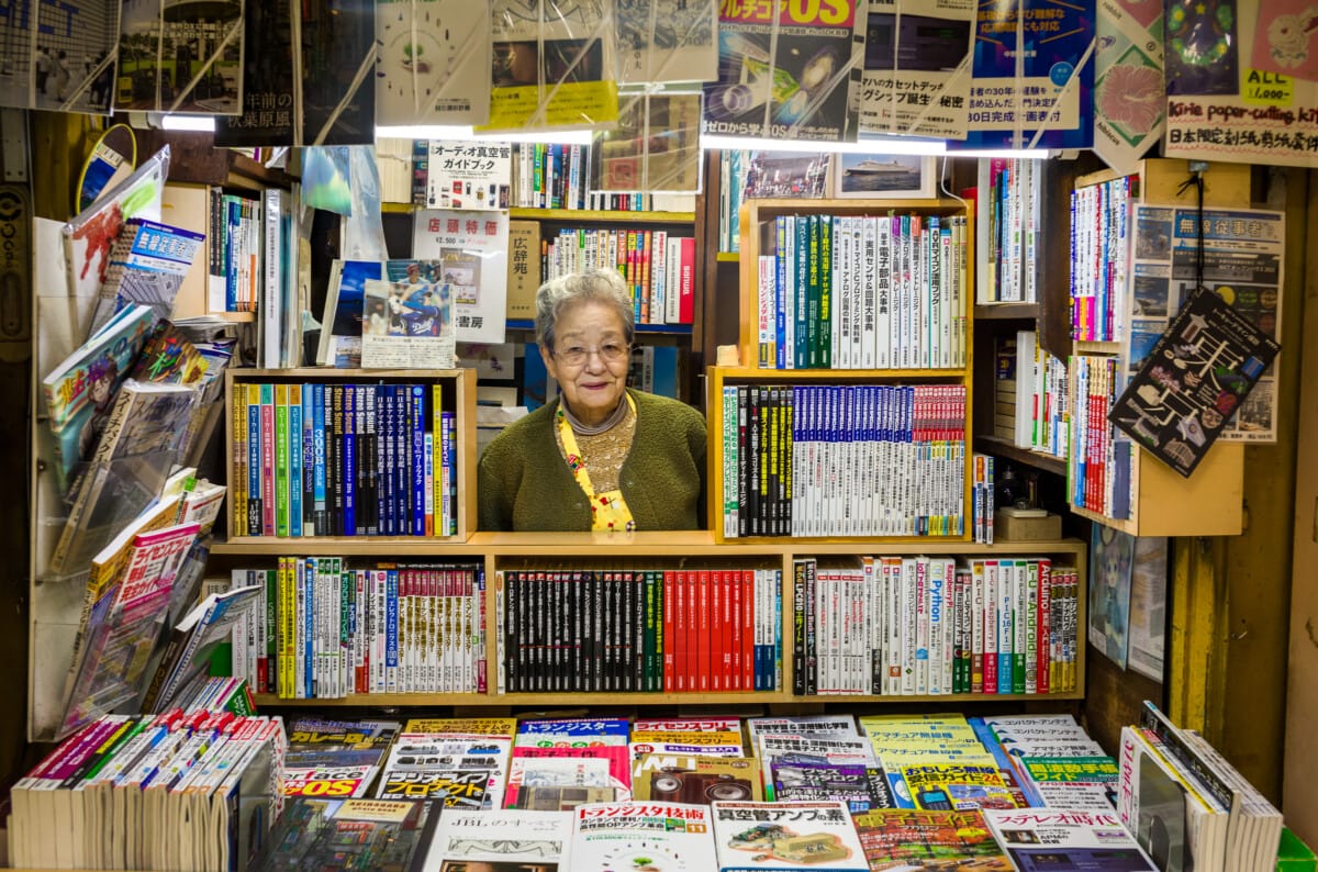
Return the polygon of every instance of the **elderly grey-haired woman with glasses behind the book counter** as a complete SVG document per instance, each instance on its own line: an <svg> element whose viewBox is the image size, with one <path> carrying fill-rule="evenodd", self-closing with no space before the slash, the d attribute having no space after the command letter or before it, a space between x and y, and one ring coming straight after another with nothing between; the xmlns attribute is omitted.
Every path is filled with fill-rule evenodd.
<svg viewBox="0 0 1318 872"><path fill-rule="evenodd" d="M704 526L705 419L627 389L634 336L617 273L575 273L540 287L535 340L560 396L481 454L481 530Z"/></svg>

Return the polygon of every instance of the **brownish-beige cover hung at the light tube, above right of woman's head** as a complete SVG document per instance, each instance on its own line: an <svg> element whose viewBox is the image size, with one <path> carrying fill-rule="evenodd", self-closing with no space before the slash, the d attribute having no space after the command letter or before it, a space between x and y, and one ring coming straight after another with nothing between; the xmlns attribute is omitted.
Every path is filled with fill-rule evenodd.
<svg viewBox="0 0 1318 872"><path fill-rule="evenodd" d="M701 94L618 95L618 126L590 142L590 190L699 192Z"/></svg>

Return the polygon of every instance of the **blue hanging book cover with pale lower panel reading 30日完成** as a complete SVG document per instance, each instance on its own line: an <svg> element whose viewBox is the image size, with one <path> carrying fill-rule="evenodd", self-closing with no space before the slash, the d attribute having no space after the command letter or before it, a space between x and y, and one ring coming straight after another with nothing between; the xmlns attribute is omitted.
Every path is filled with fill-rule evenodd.
<svg viewBox="0 0 1318 872"><path fill-rule="evenodd" d="M1095 0L982 4L975 26L970 132L965 148L1094 145L1094 4Z"/></svg>

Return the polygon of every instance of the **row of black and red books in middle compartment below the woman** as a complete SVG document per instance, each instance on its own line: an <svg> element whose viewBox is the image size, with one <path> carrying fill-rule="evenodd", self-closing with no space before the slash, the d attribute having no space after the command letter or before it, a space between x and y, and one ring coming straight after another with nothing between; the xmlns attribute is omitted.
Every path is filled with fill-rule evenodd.
<svg viewBox="0 0 1318 872"><path fill-rule="evenodd" d="M501 690L778 690L782 570L502 572Z"/></svg>

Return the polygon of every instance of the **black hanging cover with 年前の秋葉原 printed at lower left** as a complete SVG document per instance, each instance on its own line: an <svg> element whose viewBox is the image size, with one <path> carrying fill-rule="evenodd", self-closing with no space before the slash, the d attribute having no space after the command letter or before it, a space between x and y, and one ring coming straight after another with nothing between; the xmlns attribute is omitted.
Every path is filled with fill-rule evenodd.
<svg viewBox="0 0 1318 872"><path fill-rule="evenodd" d="M374 142L374 0L250 3L245 20L243 111L215 119L215 145Z"/></svg>

